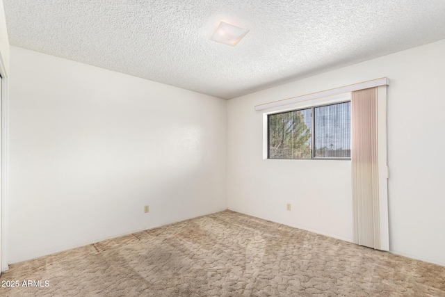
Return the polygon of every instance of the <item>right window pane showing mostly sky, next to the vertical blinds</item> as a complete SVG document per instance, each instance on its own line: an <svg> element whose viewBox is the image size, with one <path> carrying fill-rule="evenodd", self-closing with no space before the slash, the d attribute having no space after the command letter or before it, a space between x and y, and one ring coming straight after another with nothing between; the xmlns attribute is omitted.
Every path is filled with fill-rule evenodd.
<svg viewBox="0 0 445 297"><path fill-rule="evenodd" d="M350 158L350 102L315 108L315 157Z"/></svg>

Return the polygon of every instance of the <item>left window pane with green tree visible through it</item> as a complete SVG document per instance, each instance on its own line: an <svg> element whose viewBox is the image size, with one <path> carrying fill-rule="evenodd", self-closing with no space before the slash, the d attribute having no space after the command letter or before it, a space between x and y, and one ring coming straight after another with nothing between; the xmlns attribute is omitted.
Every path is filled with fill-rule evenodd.
<svg viewBox="0 0 445 297"><path fill-rule="evenodd" d="M268 115L269 159L311 158L311 110Z"/></svg>

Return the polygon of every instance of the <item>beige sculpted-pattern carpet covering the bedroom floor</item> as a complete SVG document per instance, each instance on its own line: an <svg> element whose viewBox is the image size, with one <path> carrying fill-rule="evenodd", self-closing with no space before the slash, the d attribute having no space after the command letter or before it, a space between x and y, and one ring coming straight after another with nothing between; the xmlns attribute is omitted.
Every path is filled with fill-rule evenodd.
<svg viewBox="0 0 445 297"><path fill-rule="evenodd" d="M445 296L443 266L234 211L13 264L0 280L20 282L0 296Z"/></svg>

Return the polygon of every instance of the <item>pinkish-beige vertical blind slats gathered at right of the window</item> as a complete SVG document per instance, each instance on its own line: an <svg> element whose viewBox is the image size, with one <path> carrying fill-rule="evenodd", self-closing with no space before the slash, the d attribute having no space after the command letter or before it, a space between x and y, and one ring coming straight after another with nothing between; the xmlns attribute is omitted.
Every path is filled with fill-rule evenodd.
<svg viewBox="0 0 445 297"><path fill-rule="evenodd" d="M354 242L380 249L377 87L351 94Z"/></svg>

